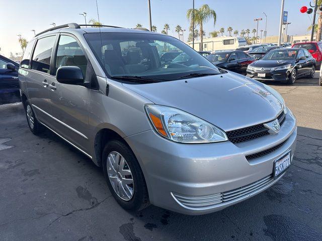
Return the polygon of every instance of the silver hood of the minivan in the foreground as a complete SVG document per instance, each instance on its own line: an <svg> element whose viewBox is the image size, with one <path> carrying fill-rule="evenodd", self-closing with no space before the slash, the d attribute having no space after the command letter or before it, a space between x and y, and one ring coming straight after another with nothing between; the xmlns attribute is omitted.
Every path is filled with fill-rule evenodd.
<svg viewBox="0 0 322 241"><path fill-rule="evenodd" d="M179 108L224 131L271 121L283 108L265 85L257 85L256 81L231 72L186 80L123 85L155 104Z"/></svg>

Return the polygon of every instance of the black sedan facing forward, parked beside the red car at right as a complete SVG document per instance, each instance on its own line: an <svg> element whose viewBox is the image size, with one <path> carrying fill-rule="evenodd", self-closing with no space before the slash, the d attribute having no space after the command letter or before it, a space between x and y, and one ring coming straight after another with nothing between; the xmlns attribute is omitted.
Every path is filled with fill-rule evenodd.
<svg viewBox="0 0 322 241"><path fill-rule="evenodd" d="M247 76L256 80L277 80L294 84L298 77L314 77L315 59L307 49L283 48L268 52L262 59L250 64Z"/></svg>

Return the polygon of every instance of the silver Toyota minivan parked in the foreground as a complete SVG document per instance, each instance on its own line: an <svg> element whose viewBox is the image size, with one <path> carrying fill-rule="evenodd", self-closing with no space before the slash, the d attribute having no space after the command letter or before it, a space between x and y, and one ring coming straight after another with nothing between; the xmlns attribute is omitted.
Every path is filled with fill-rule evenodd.
<svg viewBox="0 0 322 241"><path fill-rule="evenodd" d="M277 91L174 37L95 27L36 35L21 98L31 132L46 127L101 166L123 208L210 213L283 177L297 127ZM181 57L163 61L165 52Z"/></svg>

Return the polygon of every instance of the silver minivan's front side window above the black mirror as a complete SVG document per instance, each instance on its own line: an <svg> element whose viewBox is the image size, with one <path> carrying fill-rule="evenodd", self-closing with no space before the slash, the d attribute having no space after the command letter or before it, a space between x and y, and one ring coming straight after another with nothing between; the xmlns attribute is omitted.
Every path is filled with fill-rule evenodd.
<svg viewBox="0 0 322 241"><path fill-rule="evenodd" d="M61 66L77 66L82 70L84 78L86 76L87 59L85 54L76 40L66 35L59 37L55 73Z"/></svg>

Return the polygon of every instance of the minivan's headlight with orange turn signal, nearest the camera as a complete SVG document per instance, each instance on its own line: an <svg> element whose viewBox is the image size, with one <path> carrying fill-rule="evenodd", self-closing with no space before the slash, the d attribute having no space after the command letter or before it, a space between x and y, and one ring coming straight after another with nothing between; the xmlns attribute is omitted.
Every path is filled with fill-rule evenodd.
<svg viewBox="0 0 322 241"><path fill-rule="evenodd" d="M227 141L218 127L180 109L146 105L146 113L155 131L161 136L180 143L212 143Z"/></svg>

